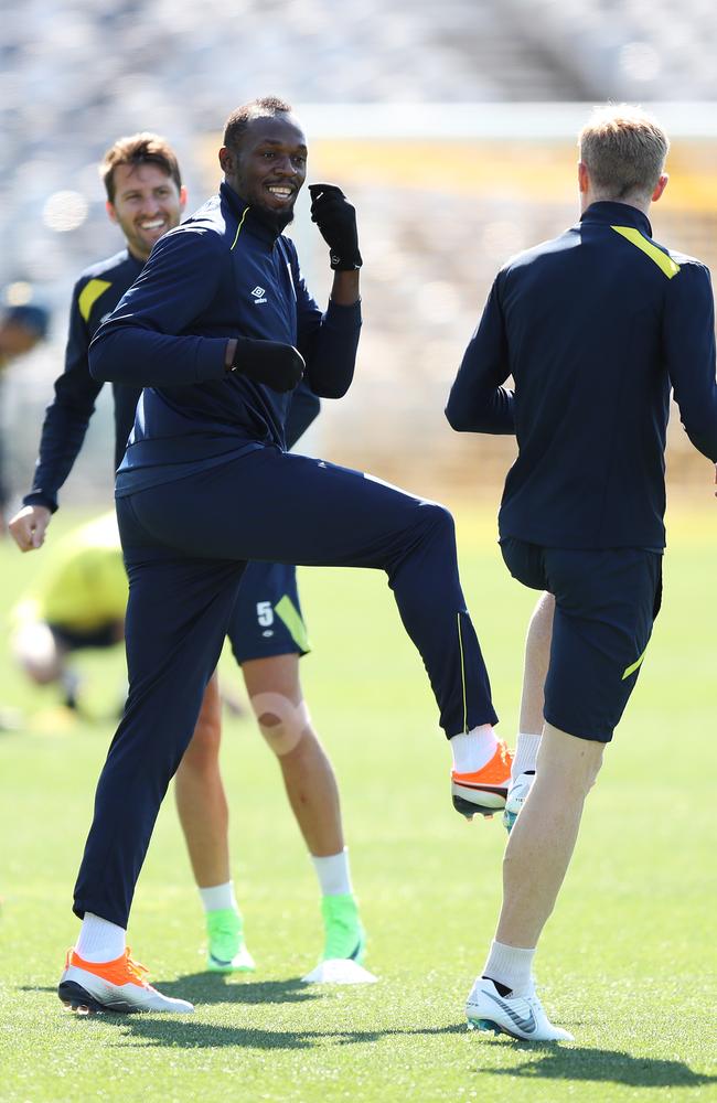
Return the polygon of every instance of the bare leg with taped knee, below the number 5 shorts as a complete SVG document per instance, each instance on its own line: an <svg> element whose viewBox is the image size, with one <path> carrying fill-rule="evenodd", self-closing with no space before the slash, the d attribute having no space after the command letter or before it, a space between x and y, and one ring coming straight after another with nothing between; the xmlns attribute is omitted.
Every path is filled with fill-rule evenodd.
<svg viewBox="0 0 717 1103"><path fill-rule="evenodd" d="M297 732L300 738L282 752L276 739L281 718L266 707L274 695L288 700L295 709L302 705L299 656L253 658L243 664L242 671L259 728L277 752L289 803L307 847L314 857L338 854L344 846L339 789L311 720L304 714L301 730Z"/></svg>

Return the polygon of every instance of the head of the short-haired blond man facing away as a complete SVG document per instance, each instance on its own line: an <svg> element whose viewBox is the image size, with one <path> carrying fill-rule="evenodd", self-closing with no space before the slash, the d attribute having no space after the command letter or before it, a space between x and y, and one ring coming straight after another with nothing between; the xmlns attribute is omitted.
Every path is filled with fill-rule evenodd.
<svg viewBox="0 0 717 1103"><path fill-rule="evenodd" d="M596 107L578 136L580 160L606 200L650 199L670 141L662 127L631 104Z"/></svg>

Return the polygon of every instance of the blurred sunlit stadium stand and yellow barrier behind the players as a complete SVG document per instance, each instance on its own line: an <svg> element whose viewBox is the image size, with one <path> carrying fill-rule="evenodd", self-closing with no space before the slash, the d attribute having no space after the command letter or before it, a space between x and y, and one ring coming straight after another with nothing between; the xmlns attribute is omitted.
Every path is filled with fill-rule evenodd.
<svg viewBox="0 0 717 1103"><path fill-rule="evenodd" d="M216 190L228 113L257 95L293 103L309 179L350 195L365 263L356 382L324 404L306 448L414 490L502 481L514 443L452 433L442 408L496 269L577 219L576 135L593 103L654 110L673 140L655 237L717 264L711 2L30 0L4 14L0 281L53 311L51 341L3 384L18 494L62 370L72 285L121 245L96 165L122 133L170 140L191 211ZM327 250L306 196L291 233L323 301ZM107 501L111 432L103 394L64 503ZM710 478L677 418L668 462L673 484Z"/></svg>

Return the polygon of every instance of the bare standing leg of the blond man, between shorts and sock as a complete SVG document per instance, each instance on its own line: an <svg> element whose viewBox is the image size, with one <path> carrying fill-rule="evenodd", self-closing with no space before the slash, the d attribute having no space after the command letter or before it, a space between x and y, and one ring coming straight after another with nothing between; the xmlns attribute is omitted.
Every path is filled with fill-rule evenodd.
<svg viewBox="0 0 717 1103"><path fill-rule="evenodd" d="M572 857L603 750L603 743L545 725L535 783L505 849L496 942L537 945Z"/></svg>

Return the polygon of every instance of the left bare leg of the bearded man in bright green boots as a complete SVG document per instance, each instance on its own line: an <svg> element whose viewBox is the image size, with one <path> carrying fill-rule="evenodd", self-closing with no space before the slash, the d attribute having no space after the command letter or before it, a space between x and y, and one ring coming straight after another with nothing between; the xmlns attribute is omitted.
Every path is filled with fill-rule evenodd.
<svg viewBox="0 0 717 1103"><path fill-rule="evenodd" d="M222 705L212 675L194 735L174 779L176 811L200 888L224 885L229 871L229 813L220 773Z"/></svg>

